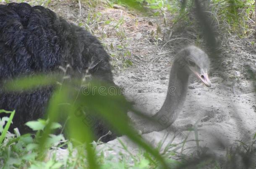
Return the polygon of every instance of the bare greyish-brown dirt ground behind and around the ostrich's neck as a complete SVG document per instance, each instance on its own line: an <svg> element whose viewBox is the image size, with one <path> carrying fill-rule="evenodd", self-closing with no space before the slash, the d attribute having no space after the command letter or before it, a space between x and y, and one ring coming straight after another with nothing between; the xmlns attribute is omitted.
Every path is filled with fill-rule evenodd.
<svg viewBox="0 0 256 169"><path fill-rule="evenodd" d="M78 3L72 0L52 1L48 8L76 24L88 23L88 15L92 10L82 4L80 11ZM134 98L137 105L145 107L149 114L154 114L165 99L175 53L185 45L196 43L195 40L175 33L168 38L168 27L161 17L143 17L123 7L97 7L93 10L100 13L99 16L89 27L83 26L102 41L112 56L115 83L125 88L125 95ZM122 18L123 24L118 27L118 21ZM171 20L172 16L167 15L167 18ZM106 20L111 22L106 24ZM172 24L168 22L167 25ZM158 27L161 33L157 40L152 32L156 34ZM237 36L229 38L229 44L223 46L225 50L221 53L220 66L225 71L220 73L216 69L218 66L212 65L209 73L213 83L211 88L191 78L183 111L175 121L174 126L177 127L194 125L198 121L199 145L208 147L209 152L225 155L227 147L239 144L237 140L250 141L256 132L256 96L245 68L247 64L256 70L256 49L249 41L254 40ZM146 99L141 101L141 98ZM163 148L170 143L181 147L180 143L187 137L191 141L185 144L185 150L180 148L178 151L192 152L196 149L193 131L183 131L175 139L173 135L171 130L164 130L144 134L143 137L153 146L164 141ZM131 152L136 152L138 147L125 136L120 139ZM110 147L112 150L109 150ZM109 150L104 151L106 155L119 154L119 151L125 153L117 139L98 148Z"/></svg>

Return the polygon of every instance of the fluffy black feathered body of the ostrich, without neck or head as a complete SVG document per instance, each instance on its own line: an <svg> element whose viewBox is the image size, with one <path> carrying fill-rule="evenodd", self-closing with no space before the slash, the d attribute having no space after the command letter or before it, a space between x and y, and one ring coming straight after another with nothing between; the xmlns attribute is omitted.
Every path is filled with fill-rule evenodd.
<svg viewBox="0 0 256 169"><path fill-rule="evenodd" d="M69 23L50 9L27 3L0 5L0 109L16 110L10 131L31 132L24 124L44 117L54 91L52 87L31 92L7 92L3 81L37 73L63 73L93 78L114 84L110 56L97 38L84 28ZM0 118L3 117L0 114ZM99 138L109 129L97 121L94 133ZM105 136L102 141L115 139Z"/></svg>

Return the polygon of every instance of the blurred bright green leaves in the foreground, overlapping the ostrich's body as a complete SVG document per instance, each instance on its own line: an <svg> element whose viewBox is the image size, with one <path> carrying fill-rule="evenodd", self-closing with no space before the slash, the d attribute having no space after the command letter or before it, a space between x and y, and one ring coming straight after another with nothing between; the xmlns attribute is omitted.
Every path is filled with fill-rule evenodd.
<svg viewBox="0 0 256 169"><path fill-rule="evenodd" d="M49 145L63 139L61 135L52 138L52 134L55 129L60 127L56 122L60 122L59 119L67 117L68 136L73 140L75 146L85 144L89 167L98 168L96 154L91 146L91 142L94 140L93 131L91 130L92 126L84 122L85 115L92 114L104 120L115 132L128 136L132 141L136 142L136 144L159 160L162 166L167 168L167 164L162 156L160 156L159 152L146 144L129 125L129 119L126 114L128 110L132 110L132 105L126 101L122 94L118 92L114 94L110 93L111 90L109 89L113 86L98 81L85 83L82 82L81 79L76 78L71 81L65 81L60 86L56 86L55 84L58 84L56 83L57 80L61 81L59 75L39 75L14 79L13 81L5 83L5 86L8 86L6 88L7 91L22 92L29 92L31 88L38 90L45 85L55 86L55 92L52 94L47 108L48 120L44 121L39 119L38 121L26 123L26 125L33 130L38 131L36 134L38 142L38 146L36 147L38 147L39 152L36 157L37 159L44 159L47 149L50 148ZM21 87L19 88L18 86ZM118 88L115 87L115 90L118 90ZM81 107L85 107L86 112L82 110L82 114L77 113ZM49 138L55 141L50 141Z"/></svg>

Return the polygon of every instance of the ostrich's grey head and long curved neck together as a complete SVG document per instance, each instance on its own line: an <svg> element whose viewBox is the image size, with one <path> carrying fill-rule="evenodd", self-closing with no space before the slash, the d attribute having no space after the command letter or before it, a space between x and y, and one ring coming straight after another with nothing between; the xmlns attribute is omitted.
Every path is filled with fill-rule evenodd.
<svg viewBox="0 0 256 169"><path fill-rule="evenodd" d="M195 74L207 87L211 87L207 70L209 58L196 46L188 46L175 57L167 90L167 96L160 110L152 116L152 121L139 116L131 117L135 129L142 134L161 131L170 126L178 117L188 91L188 79Z"/></svg>

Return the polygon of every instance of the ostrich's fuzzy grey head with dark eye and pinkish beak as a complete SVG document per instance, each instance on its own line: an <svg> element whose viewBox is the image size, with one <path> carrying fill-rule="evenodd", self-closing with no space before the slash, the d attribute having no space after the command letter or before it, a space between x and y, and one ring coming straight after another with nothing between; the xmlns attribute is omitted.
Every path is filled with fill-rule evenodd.
<svg viewBox="0 0 256 169"><path fill-rule="evenodd" d="M207 74L210 62L208 55L204 53L203 50L197 48L196 46L188 46L180 51L176 59L179 61L179 65L182 63L182 67L185 68L188 75L195 74L196 77L198 77L205 84L205 86L212 86Z"/></svg>

